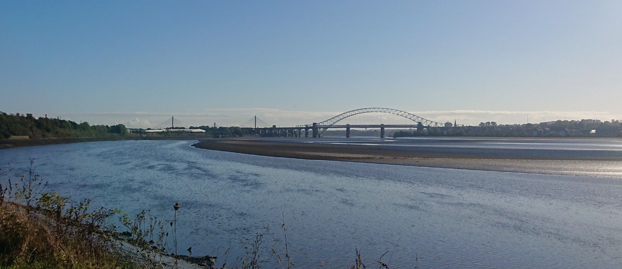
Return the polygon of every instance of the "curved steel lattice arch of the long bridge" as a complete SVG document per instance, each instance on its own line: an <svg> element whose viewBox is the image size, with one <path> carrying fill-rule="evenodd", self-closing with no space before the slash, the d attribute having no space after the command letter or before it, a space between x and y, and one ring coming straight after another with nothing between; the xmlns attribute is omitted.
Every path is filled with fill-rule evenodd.
<svg viewBox="0 0 622 269"><path fill-rule="evenodd" d="M318 134L322 134L325 130L330 128L332 125L335 125L337 122L345 119L346 117L351 117L351 116L355 116L358 114L371 113L371 112L389 113L389 114L394 114L397 116L402 116L402 117L405 117L406 119L410 119L411 121L417 122L417 124L420 123L424 126L430 126L430 127L442 127L443 126L443 124L440 122L430 121L429 119L424 119L422 117L419 117L415 114L411 114L406 111L401 111L401 110L391 109L391 108L384 108L384 107L368 107L368 108L361 108L361 109L351 110L348 112L343 112L335 117L327 119L326 121L318 122L317 123ZM296 127L312 127L312 124L297 125Z"/></svg>

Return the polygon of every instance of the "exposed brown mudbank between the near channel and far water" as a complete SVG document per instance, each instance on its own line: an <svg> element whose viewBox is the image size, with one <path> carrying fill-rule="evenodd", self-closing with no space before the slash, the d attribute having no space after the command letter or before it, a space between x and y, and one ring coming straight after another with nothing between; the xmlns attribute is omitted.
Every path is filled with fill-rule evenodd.
<svg viewBox="0 0 622 269"><path fill-rule="evenodd" d="M550 175L622 178L622 161L386 150L374 145L270 142L263 140L202 140L197 148L271 157L333 160Z"/></svg>

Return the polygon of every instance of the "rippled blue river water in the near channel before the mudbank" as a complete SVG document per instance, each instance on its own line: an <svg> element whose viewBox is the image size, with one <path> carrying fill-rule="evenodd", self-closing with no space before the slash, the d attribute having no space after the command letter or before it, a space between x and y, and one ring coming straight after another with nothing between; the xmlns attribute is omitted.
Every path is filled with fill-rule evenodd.
<svg viewBox="0 0 622 269"><path fill-rule="evenodd" d="M179 252L236 263L256 234L261 260L346 268L622 268L620 179L297 160L114 141L0 150L49 190L172 220ZM19 173L16 171L15 173ZM169 240L169 243L171 241ZM170 244L172 246L172 244ZM225 250L230 248L226 254Z"/></svg>

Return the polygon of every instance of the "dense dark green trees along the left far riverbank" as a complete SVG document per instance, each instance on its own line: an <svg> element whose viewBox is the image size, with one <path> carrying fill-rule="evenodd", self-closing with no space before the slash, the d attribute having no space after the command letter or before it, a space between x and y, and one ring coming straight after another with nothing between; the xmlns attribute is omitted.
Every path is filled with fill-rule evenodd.
<svg viewBox="0 0 622 269"><path fill-rule="evenodd" d="M0 139L12 135L28 135L30 138L44 137L111 137L125 136L125 125L89 125L49 117L35 118L32 114L7 114L0 111Z"/></svg>

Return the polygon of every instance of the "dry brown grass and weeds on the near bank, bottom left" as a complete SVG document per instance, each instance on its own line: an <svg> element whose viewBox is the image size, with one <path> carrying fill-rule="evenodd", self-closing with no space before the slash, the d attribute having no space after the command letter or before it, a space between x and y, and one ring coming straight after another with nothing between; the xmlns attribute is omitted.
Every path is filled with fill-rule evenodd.
<svg viewBox="0 0 622 269"><path fill-rule="evenodd" d="M90 201L73 203L44 193L32 170L0 185L0 268L135 268L111 251L108 218L116 209L91 210Z"/></svg>

